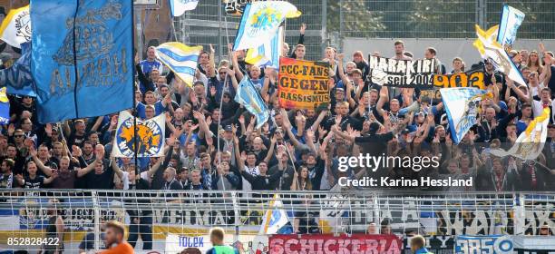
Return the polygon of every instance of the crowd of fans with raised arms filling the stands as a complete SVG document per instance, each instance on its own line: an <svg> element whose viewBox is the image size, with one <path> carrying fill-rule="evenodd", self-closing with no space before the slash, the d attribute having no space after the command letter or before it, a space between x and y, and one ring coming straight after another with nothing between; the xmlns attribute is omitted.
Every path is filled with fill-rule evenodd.
<svg viewBox="0 0 555 254"><path fill-rule="evenodd" d="M299 43L282 55L304 59L304 29ZM210 46L199 57L195 81L176 78L149 47L136 57L135 111L142 119L166 115L166 140L160 158L112 158L118 112L89 119L40 124L32 97L11 96L11 119L2 128L0 187L24 189L123 190L330 190L341 177L392 178L473 176L472 187L430 190L555 190L555 125L535 161L496 158L493 148L509 149L544 106L555 105L553 53L511 50L526 85L496 72L491 63L442 59L432 46L421 53L375 52L394 59L435 58L436 73L483 69L493 97L482 100L478 121L453 144L441 100L414 88L372 83L360 51L352 56L328 47L322 60L331 67L327 109L284 109L277 102L278 70L245 63L245 52L230 52L216 63ZM439 60L442 59L440 62ZM256 120L234 100L248 75L268 105L270 120ZM429 93L426 93L429 94ZM113 96L121 96L114 94ZM101 103L101 102L99 102ZM340 157L361 152L440 158L438 167L421 171L364 168L338 171Z"/></svg>

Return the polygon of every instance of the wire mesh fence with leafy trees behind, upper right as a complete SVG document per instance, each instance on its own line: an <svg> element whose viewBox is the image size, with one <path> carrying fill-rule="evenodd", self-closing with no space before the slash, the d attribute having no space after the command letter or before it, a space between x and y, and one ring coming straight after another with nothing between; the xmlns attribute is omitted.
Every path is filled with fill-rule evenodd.
<svg viewBox="0 0 555 254"><path fill-rule="evenodd" d="M519 38L555 38L553 1L341 0L330 12L343 37L473 38L474 24L499 23L504 3L526 14Z"/></svg>

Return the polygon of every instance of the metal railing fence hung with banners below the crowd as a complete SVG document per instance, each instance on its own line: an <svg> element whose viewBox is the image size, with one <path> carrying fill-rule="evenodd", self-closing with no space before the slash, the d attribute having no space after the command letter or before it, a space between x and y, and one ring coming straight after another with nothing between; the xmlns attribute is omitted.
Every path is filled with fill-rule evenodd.
<svg viewBox="0 0 555 254"><path fill-rule="evenodd" d="M287 213L301 233L419 233L455 235L540 235L555 231L555 193L408 192L163 192L118 190L0 191L0 250L40 249L15 245L14 239L47 236L52 218L63 219L65 253L75 253L87 234L103 246L102 223L119 220L129 227L136 249L177 253L206 241L219 226L229 243L248 246L268 210ZM58 202L53 202L53 200ZM271 204L271 205L270 205ZM269 217L268 217L269 218ZM55 228L54 228L55 229ZM139 233L137 233L139 232ZM189 243L188 243L189 242ZM151 244L151 247L148 246Z"/></svg>

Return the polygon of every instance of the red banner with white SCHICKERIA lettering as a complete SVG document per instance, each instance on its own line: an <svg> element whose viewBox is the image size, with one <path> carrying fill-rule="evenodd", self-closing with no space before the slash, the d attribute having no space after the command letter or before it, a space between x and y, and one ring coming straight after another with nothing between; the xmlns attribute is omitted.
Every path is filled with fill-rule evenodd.
<svg viewBox="0 0 555 254"><path fill-rule="evenodd" d="M272 254L394 254L401 253L401 248L403 242L395 235L275 235L269 239Z"/></svg>

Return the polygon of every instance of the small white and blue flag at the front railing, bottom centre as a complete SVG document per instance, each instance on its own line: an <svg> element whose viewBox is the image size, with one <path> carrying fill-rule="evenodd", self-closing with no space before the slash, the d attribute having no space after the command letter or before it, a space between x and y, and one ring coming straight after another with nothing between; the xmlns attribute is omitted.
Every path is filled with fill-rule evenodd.
<svg viewBox="0 0 555 254"><path fill-rule="evenodd" d="M290 223L289 217L282 207L283 203L279 200L279 195L275 194L274 199L270 201L269 209L262 219L262 226L258 231L259 235L293 233L292 227L287 227L287 223Z"/></svg>

